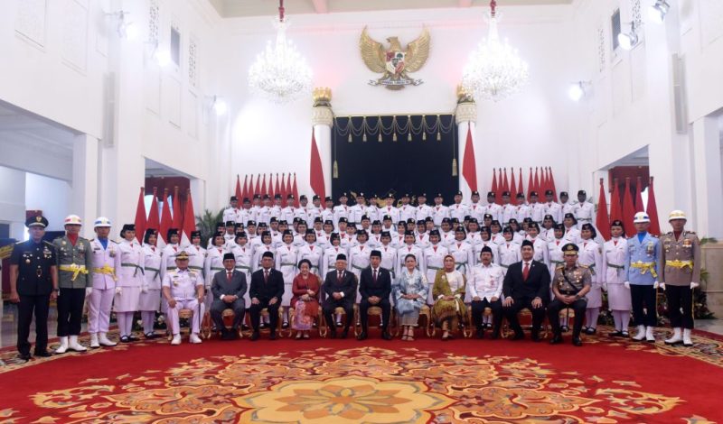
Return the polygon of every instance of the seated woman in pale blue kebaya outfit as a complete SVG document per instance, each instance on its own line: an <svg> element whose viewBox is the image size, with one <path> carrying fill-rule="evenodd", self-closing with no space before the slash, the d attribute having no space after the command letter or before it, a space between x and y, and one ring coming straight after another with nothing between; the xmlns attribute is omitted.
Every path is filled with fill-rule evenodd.
<svg viewBox="0 0 723 424"><path fill-rule="evenodd" d="M427 299L427 277L417 269L417 258L408 254L404 258L404 268L391 287L394 296L399 326L404 328L401 339L414 340L414 327L419 321L419 310Z"/></svg>

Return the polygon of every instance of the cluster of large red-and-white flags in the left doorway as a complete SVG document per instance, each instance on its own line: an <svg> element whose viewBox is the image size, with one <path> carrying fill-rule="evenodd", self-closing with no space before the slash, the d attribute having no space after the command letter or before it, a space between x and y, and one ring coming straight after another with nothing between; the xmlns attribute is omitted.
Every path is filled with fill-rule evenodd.
<svg viewBox="0 0 723 424"><path fill-rule="evenodd" d="M165 236L170 228L177 228L181 235L181 244L190 244L191 233L196 231L196 216L193 213L193 200L191 198L191 190L186 194L185 205L181 205L181 198L178 195L178 187L174 189L174 196L168 199L168 189L164 189L163 208L158 211L158 193L157 189L153 189L153 203L150 212L146 217L146 189L141 187L138 195L138 205L136 207L136 238L139 243L143 243L143 236L146 228L155 228L158 230L158 246L163 247L167 240ZM174 211L171 212L170 203L173 202Z"/></svg>

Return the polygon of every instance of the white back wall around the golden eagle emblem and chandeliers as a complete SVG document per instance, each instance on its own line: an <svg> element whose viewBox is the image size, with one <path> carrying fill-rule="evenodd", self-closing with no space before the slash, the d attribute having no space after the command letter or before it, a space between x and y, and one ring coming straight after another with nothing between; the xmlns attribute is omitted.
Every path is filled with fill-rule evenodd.
<svg viewBox="0 0 723 424"><path fill-rule="evenodd" d="M292 15L289 37L314 69L314 86L332 88L336 115L454 113L462 69L486 36L486 10ZM483 190L490 187L493 167L522 167L527 184L530 166L552 166L559 189L577 189L577 183L568 187L568 158L559 153L568 149L575 136L569 128L576 109L566 96L568 82L577 78L575 58L558 44L562 38L572 38L572 8L502 7L502 11L506 14L500 27L502 37L509 38L529 61L531 80L516 97L478 106L478 185ZM368 80L379 76L366 68L359 53L364 25L377 41L396 35L406 45L418 37L423 24L431 32L432 47L427 64L414 78L425 83L398 92L369 86ZM310 193L311 96L286 106L250 96L246 84L249 66L275 34L270 17L232 19L225 25L227 54L219 65L221 80L233 96L233 177L236 173L296 171L299 191ZM232 189L231 176L225 180Z"/></svg>

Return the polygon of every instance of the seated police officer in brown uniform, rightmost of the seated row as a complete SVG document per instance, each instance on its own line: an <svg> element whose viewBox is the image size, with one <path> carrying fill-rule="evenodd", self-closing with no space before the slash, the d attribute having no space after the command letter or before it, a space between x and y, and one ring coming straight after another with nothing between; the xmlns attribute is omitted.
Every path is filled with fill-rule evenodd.
<svg viewBox="0 0 723 424"><path fill-rule="evenodd" d="M565 244L562 251L565 254L577 254L578 247L576 244ZM549 302L548 305L548 318L549 323L552 326L552 339L551 344L560 343L562 341L561 328L559 325L559 311L562 309L573 309L575 311L575 324L572 329L572 343L575 346L581 346L580 331L582 330L582 323L585 319L585 310L587 309L587 299L584 295L583 290L586 287L590 287L592 284L592 275L590 271L585 268L578 266L577 263L572 267L568 268L567 265L560 265L555 269L555 277L552 279L553 290L556 290L559 295L562 296L574 296L575 300L571 303L565 303L560 300L557 296L555 299ZM583 293L583 294L581 294Z"/></svg>

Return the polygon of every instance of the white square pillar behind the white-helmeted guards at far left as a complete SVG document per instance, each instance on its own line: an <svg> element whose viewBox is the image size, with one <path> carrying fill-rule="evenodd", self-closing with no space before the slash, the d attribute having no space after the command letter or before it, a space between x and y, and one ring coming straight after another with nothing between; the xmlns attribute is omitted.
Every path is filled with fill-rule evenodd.
<svg viewBox="0 0 723 424"><path fill-rule="evenodd" d="M93 221L98 213L99 141L89 134L73 140L73 166L70 212L83 220L82 235L93 237Z"/></svg>

